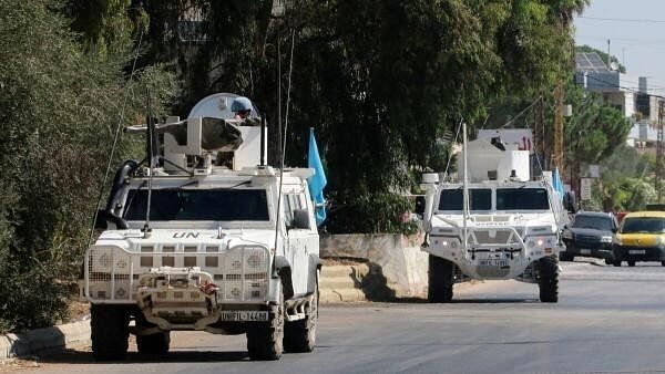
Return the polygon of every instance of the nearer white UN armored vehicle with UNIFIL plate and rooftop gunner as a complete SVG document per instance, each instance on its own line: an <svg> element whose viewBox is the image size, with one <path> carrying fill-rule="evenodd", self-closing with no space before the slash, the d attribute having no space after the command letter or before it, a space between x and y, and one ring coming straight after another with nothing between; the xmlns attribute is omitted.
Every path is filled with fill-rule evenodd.
<svg viewBox="0 0 665 374"><path fill-rule="evenodd" d="M246 334L252 360L314 349L314 172L266 166L265 122L236 120L235 97L129 128L152 139L149 157L117 170L81 281L98 360L124 357L130 333L140 353L166 353L176 330Z"/></svg>

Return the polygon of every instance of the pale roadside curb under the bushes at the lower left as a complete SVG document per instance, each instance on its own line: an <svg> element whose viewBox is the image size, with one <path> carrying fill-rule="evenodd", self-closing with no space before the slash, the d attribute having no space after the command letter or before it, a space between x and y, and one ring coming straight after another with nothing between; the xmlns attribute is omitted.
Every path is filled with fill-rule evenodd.
<svg viewBox="0 0 665 374"><path fill-rule="evenodd" d="M0 335L0 361L90 345L90 321Z"/></svg>

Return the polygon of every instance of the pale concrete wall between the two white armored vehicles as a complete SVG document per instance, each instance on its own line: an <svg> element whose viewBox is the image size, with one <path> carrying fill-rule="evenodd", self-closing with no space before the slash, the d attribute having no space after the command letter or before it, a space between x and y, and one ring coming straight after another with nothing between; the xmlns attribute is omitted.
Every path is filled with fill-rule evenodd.
<svg viewBox="0 0 665 374"><path fill-rule="evenodd" d="M422 235L330 235L320 238L323 258L366 259L386 277L398 298L427 292L428 254L420 250Z"/></svg>

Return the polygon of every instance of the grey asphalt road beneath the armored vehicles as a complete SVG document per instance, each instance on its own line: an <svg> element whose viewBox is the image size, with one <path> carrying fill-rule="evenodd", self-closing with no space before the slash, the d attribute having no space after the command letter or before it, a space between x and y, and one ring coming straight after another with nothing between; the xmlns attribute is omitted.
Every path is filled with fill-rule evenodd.
<svg viewBox="0 0 665 374"><path fill-rule="evenodd" d="M310 354L250 362L244 336L176 333L163 359L89 352L21 373L580 373L665 371L665 268L564 263L560 302L538 288L485 282L451 304L357 303L320 311ZM135 352L135 347L132 347Z"/></svg>

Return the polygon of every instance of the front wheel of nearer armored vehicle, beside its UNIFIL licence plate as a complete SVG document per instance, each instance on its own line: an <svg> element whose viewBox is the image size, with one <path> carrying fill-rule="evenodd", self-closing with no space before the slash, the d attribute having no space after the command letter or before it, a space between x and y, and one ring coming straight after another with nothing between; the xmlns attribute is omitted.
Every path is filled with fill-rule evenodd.
<svg viewBox="0 0 665 374"><path fill-rule="evenodd" d="M247 329L249 360L279 360L284 351L284 295L273 307L267 322L256 322Z"/></svg>

